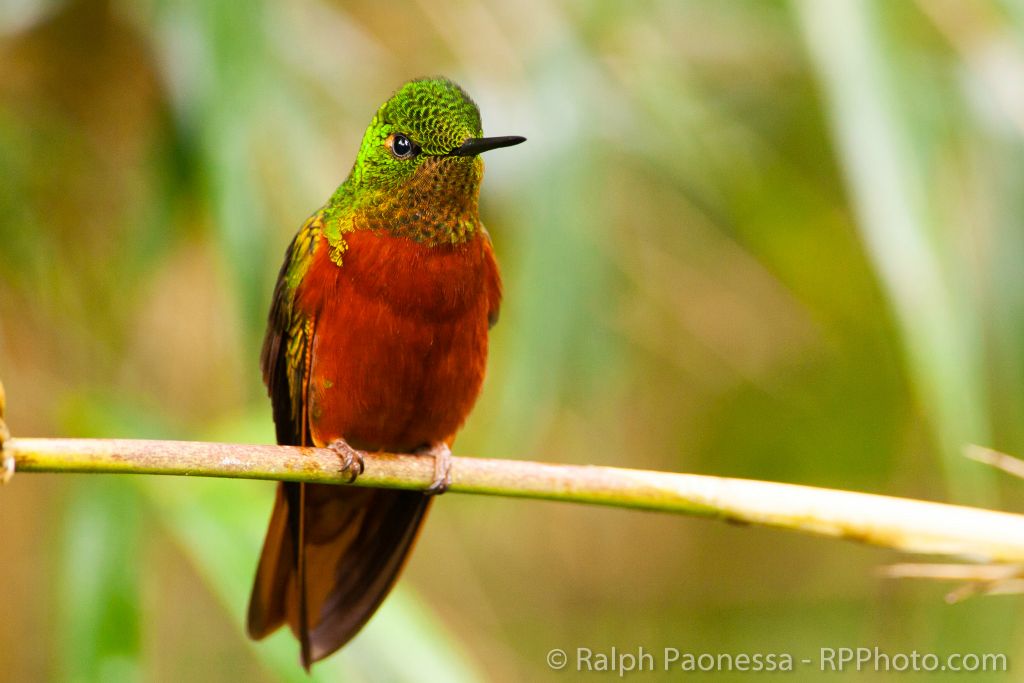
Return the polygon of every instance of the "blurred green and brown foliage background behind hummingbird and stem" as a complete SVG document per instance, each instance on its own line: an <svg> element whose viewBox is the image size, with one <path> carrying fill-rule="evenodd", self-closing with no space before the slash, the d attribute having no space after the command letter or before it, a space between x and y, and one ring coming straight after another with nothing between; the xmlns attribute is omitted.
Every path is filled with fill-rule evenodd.
<svg viewBox="0 0 1024 683"><path fill-rule="evenodd" d="M13 432L272 441L257 353L285 247L377 105L435 74L487 134L528 138L486 160L506 302L458 453L1024 510L1024 484L961 456L1024 453L1018 0L3 0ZM15 477L0 680L307 680L289 637L243 630L271 497ZM946 605L948 587L878 578L900 559L450 496L314 679L572 680L553 647L878 645L1005 652L1008 674L949 679L1024 680L1019 597Z"/></svg>

